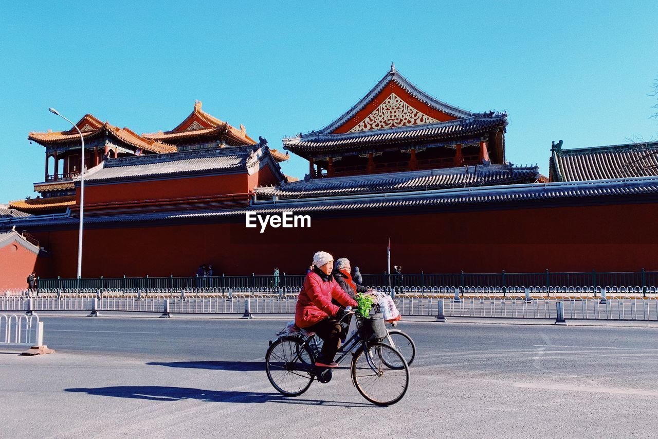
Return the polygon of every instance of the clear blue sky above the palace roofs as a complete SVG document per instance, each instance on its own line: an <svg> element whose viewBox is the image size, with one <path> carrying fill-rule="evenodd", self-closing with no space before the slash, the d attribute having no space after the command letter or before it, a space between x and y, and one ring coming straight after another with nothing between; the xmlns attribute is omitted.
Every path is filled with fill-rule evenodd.
<svg viewBox="0 0 658 439"><path fill-rule="evenodd" d="M34 196L30 131L89 112L136 132L194 100L254 138L318 129L391 61L433 96L509 113L507 158L655 137L658 2L10 2L0 13L0 203ZM583 3L588 3L583 5ZM284 172L302 177L293 158Z"/></svg>

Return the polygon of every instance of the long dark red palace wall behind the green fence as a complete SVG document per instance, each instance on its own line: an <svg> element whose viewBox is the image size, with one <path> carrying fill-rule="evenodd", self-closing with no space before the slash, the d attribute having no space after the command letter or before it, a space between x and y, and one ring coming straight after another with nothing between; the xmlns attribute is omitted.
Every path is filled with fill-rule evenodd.
<svg viewBox="0 0 658 439"><path fill-rule="evenodd" d="M658 234L647 221L657 215L658 204L625 204L369 217L353 212L344 218L312 213L310 229L268 227L265 233L247 229L243 217L157 227L89 225L83 276L193 276L202 263L227 275L268 274L274 266L303 274L317 250L347 256L362 272L381 273L389 237L392 264L407 273L658 270ZM53 254L42 276L75 276L77 229L30 233Z"/></svg>

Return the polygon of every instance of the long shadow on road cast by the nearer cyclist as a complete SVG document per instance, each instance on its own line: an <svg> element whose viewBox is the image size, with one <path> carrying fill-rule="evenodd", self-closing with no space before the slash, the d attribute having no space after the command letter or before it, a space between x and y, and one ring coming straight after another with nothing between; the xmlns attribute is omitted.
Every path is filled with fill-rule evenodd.
<svg viewBox="0 0 658 439"><path fill-rule="evenodd" d="M319 405L330 407L372 407L375 405L345 401L314 401L299 397L286 397L277 393L238 392L236 390L202 390L186 387L168 386L113 386L99 388L70 388L64 392L78 392L89 395L113 396L119 398L148 399L150 401L180 401L182 399L198 399L205 402L230 403L285 403L301 405Z"/></svg>

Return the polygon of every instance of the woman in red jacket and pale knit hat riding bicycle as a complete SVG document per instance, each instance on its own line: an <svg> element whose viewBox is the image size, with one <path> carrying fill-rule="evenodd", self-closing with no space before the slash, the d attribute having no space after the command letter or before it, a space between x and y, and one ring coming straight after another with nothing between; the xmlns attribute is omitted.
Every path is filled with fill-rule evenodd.
<svg viewBox="0 0 658 439"><path fill-rule="evenodd" d="M312 331L324 341L318 367L336 367L334 357L338 351L342 326L339 320L345 310L332 303L336 300L343 307L357 307L357 302L349 297L331 276L334 257L327 252L313 255L313 270L304 279L295 305L295 324L299 328Z"/></svg>

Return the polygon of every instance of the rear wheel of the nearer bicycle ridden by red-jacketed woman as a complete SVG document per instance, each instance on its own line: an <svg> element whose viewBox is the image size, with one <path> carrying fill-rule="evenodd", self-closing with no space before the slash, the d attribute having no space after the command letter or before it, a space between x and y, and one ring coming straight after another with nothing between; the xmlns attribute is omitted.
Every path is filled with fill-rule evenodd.
<svg viewBox="0 0 658 439"><path fill-rule="evenodd" d="M313 382L311 365L315 358L298 337L280 338L267 349L265 370L272 386L286 396L306 392Z"/></svg>

